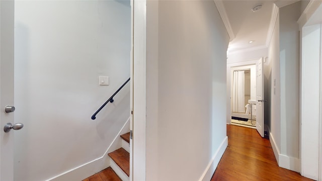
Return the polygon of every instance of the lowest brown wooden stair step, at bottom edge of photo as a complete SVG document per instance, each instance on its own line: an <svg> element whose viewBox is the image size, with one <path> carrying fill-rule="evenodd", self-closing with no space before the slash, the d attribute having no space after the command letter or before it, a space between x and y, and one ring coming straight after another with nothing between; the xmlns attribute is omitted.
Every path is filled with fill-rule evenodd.
<svg viewBox="0 0 322 181"><path fill-rule="evenodd" d="M122 179L117 176L111 167L108 167L83 181L122 181Z"/></svg>

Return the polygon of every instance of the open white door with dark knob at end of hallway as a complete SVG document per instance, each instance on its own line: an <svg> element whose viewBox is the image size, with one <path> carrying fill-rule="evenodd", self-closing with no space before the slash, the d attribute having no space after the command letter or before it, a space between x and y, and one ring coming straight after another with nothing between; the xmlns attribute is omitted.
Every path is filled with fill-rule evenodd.
<svg viewBox="0 0 322 181"><path fill-rule="evenodd" d="M256 62L256 129L264 137L264 75L263 58Z"/></svg>

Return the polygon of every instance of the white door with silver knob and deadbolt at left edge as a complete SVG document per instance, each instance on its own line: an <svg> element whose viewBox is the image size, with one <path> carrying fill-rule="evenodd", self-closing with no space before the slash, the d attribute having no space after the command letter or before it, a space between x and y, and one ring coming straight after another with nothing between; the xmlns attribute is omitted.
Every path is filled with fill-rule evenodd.
<svg viewBox="0 0 322 181"><path fill-rule="evenodd" d="M14 1L0 1L0 180L14 180L14 131L4 131L14 122L14 113L5 113L14 104L14 8Z"/></svg>

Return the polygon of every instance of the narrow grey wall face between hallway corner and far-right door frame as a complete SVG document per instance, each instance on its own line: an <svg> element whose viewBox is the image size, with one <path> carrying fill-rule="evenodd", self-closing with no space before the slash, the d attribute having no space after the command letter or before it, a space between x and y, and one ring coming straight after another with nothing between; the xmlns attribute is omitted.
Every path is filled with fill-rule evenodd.
<svg viewBox="0 0 322 181"><path fill-rule="evenodd" d="M301 3L280 8L281 154L299 158L299 29ZM289 163L292 164L292 163ZM292 170L299 171L298 165ZM298 163L297 163L298 164ZM280 165L287 167L288 165ZM296 167L297 166L297 167Z"/></svg>

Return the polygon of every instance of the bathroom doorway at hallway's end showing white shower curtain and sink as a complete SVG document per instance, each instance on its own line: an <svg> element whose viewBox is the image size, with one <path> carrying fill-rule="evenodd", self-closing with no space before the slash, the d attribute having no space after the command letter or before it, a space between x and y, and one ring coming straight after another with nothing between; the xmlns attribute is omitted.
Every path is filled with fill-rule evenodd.
<svg viewBox="0 0 322 181"><path fill-rule="evenodd" d="M231 67L231 124L256 128L256 65Z"/></svg>

